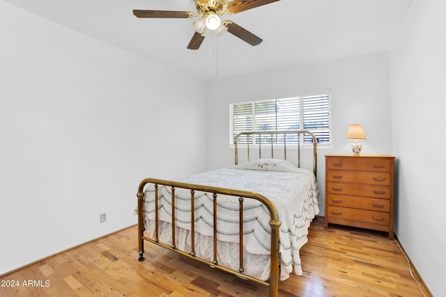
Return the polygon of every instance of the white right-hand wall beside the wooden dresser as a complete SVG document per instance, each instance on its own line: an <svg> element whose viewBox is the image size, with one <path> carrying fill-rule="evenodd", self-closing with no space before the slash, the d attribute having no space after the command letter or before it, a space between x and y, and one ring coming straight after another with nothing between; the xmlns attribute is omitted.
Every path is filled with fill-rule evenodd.
<svg viewBox="0 0 446 297"><path fill-rule="evenodd" d="M446 2L415 0L390 54L395 229L434 296L446 296Z"/></svg>

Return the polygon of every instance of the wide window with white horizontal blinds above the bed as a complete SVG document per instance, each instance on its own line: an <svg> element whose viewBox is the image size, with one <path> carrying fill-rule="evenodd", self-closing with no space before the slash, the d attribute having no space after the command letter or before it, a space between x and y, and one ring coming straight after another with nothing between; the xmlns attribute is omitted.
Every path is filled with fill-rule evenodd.
<svg viewBox="0 0 446 297"><path fill-rule="evenodd" d="M231 137L233 145L240 131L249 130L292 130L312 131L318 143L330 144L330 95L312 95L283 99L268 99L254 102L234 103L231 109ZM286 143L297 143L297 136L289 136ZM271 141L270 136L265 137ZM269 140L268 140L269 139ZM263 142L263 138L260 140ZM283 136L277 136L275 143L283 142ZM259 143L259 136L249 143ZM239 143L247 143L240 139ZM300 143L312 143L310 136L300 139Z"/></svg>

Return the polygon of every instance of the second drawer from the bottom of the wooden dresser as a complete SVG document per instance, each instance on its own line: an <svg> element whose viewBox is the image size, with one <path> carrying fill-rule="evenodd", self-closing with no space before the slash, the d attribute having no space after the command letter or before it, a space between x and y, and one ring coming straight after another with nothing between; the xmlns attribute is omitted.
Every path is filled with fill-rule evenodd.
<svg viewBox="0 0 446 297"><path fill-rule="evenodd" d="M327 195L328 205L335 207L349 207L355 209L367 209L373 211L390 211L389 199L364 198L346 195Z"/></svg>

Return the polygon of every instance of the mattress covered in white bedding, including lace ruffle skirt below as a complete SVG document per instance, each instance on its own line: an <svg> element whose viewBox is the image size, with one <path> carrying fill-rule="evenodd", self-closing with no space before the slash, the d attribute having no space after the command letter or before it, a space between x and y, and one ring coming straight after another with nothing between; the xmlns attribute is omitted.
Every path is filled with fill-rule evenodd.
<svg viewBox="0 0 446 297"><path fill-rule="evenodd" d="M191 175L178 182L260 193L271 200L282 223L279 232L280 279L289 273L302 275L299 250L307 243L308 227L319 212L318 188L314 174L296 168L284 160L260 159L238 166ZM171 244L171 188L158 187L160 241ZM176 246L185 252L191 246L190 190L176 188ZM213 257L213 195L194 193L195 197L195 252L197 257ZM153 237L154 187L145 191L144 225ZM238 271L239 202L237 197L217 196L218 264ZM243 204L243 251L247 275L261 280L269 277L270 215L261 202L245 199ZM234 252L236 251L236 252Z"/></svg>

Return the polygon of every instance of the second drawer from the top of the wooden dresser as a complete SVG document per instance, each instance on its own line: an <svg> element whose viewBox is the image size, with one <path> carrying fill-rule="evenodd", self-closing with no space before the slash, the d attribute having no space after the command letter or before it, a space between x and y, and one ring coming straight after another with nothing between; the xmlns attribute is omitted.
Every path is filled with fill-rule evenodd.
<svg viewBox="0 0 446 297"><path fill-rule="evenodd" d="M382 184L390 186L390 172L367 172L351 170L328 170L330 182L355 182L359 184Z"/></svg>

